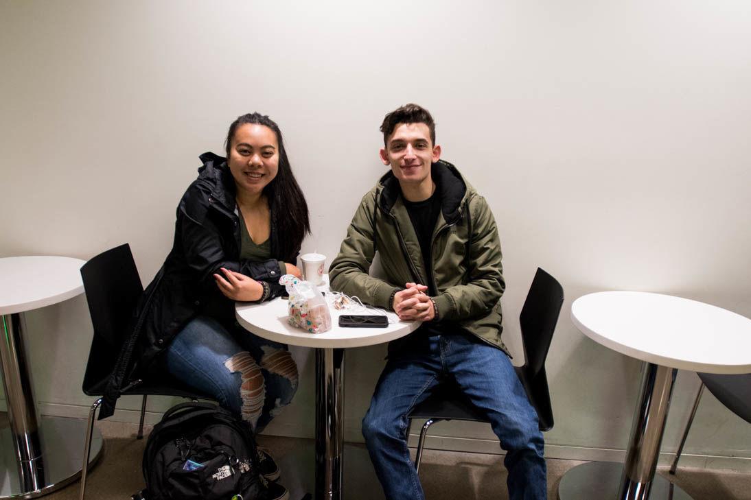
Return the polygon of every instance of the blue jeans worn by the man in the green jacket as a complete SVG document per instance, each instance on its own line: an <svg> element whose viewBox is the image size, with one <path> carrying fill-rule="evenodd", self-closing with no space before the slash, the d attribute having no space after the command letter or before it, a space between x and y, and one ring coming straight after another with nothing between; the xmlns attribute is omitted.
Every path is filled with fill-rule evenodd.
<svg viewBox="0 0 751 500"><path fill-rule="evenodd" d="M490 420L506 450L511 500L547 498L547 466L537 413L508 356L469 334L407 339L390 354L363 419L370 459L388 500L422 500L407 448L406 415L439 384L457 387Z"/></svg>

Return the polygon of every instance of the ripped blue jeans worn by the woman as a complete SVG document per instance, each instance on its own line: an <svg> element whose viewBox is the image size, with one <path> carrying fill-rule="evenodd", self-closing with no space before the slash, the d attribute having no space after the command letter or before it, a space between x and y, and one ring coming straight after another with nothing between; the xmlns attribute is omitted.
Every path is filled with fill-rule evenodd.
<svg viewBox="0 0 751 500"><path fill-rule="evenodd" d="M185 325L164 353L170 375L249 422L255 432L297 391L297 364L287 346L209 316Z"/></svg>

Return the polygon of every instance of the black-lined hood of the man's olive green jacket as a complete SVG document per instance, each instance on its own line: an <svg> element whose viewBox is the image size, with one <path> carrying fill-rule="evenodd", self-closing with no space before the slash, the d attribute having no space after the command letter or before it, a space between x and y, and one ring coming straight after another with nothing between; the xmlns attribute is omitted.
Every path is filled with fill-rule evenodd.
<svg viewBox="0 0 751 500"><path fill-rule="evenodd" d="M436 189L441 194L441 212L447 224L454 224L462 217L463 202L472 191L472 186L464 179L457 167L448 161L439 160L430 166L430 176L436 183ZM380 196L379 193L380 192ZM385 212L391 208L400 197L402 189L399 179L389 170L376 186L376 197L379 207Z"/></svg>

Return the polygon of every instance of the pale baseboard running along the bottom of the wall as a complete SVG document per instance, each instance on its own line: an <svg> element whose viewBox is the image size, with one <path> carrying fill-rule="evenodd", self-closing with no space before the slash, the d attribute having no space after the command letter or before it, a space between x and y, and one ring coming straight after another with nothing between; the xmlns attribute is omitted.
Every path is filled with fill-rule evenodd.
<svg viewBox="0 0 751 500"><path fill-rule="evenodd" d="M92 398L92 403L94 399ZM0 401L0 408L5 406L5 401ZM4 409L4 408L3 408ZM62 405L57 403L40 403L38 411L45 415L59 417L88 418L89 408L80 405ZM146 411L144 422L154 425L161 420L161 412ZM107 419L113 422L138 423L140 411L117 409L112 417ZM303 429L292 424L274 426L273 435L288 438L311 438L305 435ZM419 434L409 435L409 446L417 447ZM344 429L345 441L363 442L360 429L347 427ZM498 441L489 439L454 438L442 435L428 435L425 438L425 448L428 450L463 451L469 453L490 453L503 455L505 452L499 447ZM626 450L614 450L608 448L577 447L561 444L545 444L545 456L550 459L587 460L602 462L623 462L626 459ZM673 453L660 453L659 465L670 465ZM725 469L743 473L751 473L751 457L745 456L713 456L684 453L680 457L680 466L687 468Z"/></svg>

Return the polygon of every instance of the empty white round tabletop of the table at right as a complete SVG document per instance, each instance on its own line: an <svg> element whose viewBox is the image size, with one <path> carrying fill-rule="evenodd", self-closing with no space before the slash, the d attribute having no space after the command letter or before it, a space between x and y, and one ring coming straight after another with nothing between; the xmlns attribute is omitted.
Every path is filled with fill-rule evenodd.
<svg viewBox="0 0 751 500"><path fill-rule="evenodd" d="M751 320L671 295L608 291L579 297L571 318L614 351L677 369L751 372Z"/></svg>

